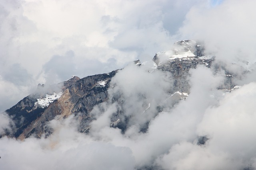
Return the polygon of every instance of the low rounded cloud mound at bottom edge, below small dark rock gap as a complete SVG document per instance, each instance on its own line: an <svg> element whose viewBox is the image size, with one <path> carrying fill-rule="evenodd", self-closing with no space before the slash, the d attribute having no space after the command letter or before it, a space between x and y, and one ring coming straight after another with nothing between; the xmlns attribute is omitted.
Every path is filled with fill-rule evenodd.
<svg viewBox="0 0 256 170"><path fill-rule="evenodd" d="M215 153L213 150L189 142L173 145L169 153L158 159L158 164L166 170L216 170L243 169L241 162L233 162L225 153Z"/></svg>

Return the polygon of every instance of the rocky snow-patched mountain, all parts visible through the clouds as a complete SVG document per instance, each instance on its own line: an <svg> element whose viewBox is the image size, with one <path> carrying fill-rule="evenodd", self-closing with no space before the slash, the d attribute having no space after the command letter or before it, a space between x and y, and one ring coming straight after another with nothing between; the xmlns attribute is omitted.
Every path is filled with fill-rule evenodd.
<svg viewBox="0 0 256 170"><path fill-rule="evenodd" d="M170 97L163 100L174 106L180 100L185 100L190 93L188 80L190 69L196 68L198 65L216 70L224 68L221 64L212 64L213 61L214 57L205 56L204 47L196 41L177 41L173 50L156 53L152 61L149 61L152 63L152 67L148 70L148 74L154 70L170 74L173 86L168 89ZM142 67L148 62L140 63L139 60L136 60L134 64L137 67ZM91 111L94 106L103 102L117 103L118 109L110 115L112 122L110 127L119 128L124 133L132 125L133 117L124 113L123 102L125 99L122 94L109 95L109 90L116 88L111 80L119 71L114 70L106 74L97 74L81 79L73 76L69 80L51 86L38 84L36 92L6 110L6 113L14 121L12 126L14 133L6 133L6 135L21 140L31 135L38 138L48 137L52 133L52 129L47 126L47 123L53 119L65 119L70 115L74 115L78 120L78 131L88 133L90 132L90 123L96 119ZM232 82L233 76L227 71L226 75L225 83L220 86L220 89L229 91L234 88L235 84ZM144 112L153 106L147 103L145 107ZM160 101L154 107L156 108L153 117L164 109L164 105ZM149 117L148 121L140 124L142 133L147 131L151 118Z"/></svg>

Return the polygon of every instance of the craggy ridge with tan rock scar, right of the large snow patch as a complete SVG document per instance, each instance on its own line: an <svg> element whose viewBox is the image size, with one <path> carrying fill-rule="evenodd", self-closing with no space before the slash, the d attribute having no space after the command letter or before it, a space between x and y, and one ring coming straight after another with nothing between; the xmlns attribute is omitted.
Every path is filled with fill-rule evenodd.
<svg viewBox="0 0 256 170"><path fill-rule="evenodd" d="M108 74L76 78L73 83L66 83L69 86L64 90L62 96L50 104L40 117L33 120L18 136L18 139L25 139L32 134L36 137L41 137L42 134L49 135L52 131L46 125L57 115L59 118L65 118L71 114L77 115L81 124L79 131L84 131L93 119L90 115L92 108L108 98L107 90L110 80L115 74L116 71L112 71Z"/></svg>

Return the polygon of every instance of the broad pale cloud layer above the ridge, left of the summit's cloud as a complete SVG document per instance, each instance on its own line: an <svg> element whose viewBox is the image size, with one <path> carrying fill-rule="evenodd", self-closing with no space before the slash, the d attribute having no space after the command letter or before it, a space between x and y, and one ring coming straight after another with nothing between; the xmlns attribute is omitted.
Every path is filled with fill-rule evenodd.
<svg viewBox="0 0 256 170"><path fill-rule="evenodd" d="M0 92L6 102L0 110L30 94L38 83L110 72L169 50L180 40L176 32L190 8L201 3L1 0ZM12 88L7 94L6 86Z"/></svg>

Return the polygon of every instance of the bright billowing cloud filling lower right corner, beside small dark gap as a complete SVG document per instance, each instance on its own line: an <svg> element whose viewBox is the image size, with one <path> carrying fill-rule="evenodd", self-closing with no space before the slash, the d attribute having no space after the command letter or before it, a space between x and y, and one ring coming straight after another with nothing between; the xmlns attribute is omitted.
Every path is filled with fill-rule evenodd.
<svg viewBox="0 0 256 170"><path fill-rule="evenodd" d="M205 110L195 131L209 138L205 146L181 141L158 164L178 170L255 168L255 87L254 82L244 85Z"/></svg>

